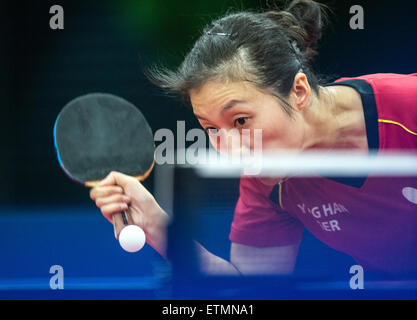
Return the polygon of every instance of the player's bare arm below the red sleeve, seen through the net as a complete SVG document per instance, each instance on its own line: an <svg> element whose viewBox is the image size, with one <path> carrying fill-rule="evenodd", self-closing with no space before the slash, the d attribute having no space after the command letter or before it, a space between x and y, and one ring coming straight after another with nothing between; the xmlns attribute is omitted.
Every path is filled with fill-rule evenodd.
<svg viewBox="0 0 417 320"><path fill-rule="evenodd" d="M196 242L204 273L221 275L282 275L294 270L299 245L254 247L232 242L230 262Z"/></svg>

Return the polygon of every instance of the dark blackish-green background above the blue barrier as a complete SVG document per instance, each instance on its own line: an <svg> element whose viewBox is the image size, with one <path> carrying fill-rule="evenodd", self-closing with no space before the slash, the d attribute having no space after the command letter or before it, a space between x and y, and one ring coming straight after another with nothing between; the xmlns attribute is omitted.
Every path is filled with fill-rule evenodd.
<svg viewBox="0 0 417 320"><path fill-rule="evenodd" d="M417 72L414 1L323 1L333 10L315 69L330 78ZM64 8L65 29L49 28L49 8ZM349 28L362 5L365 29ZM85 203L88 192L56 161L52 129L60 109L88 92L109 92L142 109L154 132L192 113L163 96L142 68L176 66L202 26L228 9L265 1L2 1L0 4L0 203ZM146 183L152 189L152 177Z"/></svg>

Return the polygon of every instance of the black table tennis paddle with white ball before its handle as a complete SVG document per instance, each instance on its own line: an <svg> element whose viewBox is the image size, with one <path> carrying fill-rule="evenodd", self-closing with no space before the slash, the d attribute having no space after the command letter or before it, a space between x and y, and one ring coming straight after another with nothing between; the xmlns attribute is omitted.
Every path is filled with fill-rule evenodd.
<svg viewBox="0 0 417 320"><path fill-rule="evenodd" d="M71 100L58 114L54 144L61 168L72 180L95 187L111 171L143 181L154 166L152 130L130 102L107 93L91 93ZM135 252L145 235L126 212L113 215L116 239Z"/></svg>

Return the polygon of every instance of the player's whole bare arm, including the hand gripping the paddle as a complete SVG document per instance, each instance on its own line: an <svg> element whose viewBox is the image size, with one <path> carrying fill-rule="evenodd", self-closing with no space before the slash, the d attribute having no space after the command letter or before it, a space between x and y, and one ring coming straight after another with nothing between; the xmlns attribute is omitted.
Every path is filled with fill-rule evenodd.
<svg viewBox="0 0 417 320"><path fill-rule="evenodd" d="M145 231L148 244L166 258L169 217L139 181L112 172L99 187L91 190L90 196L110 222L114 213L127 210L129 205L128 212L133 222ZM294 267L298 251L298 245L259 247L232 242L231 261L228 262L200 244L196 245L201 268L209 274L288 274Z"/></svg>

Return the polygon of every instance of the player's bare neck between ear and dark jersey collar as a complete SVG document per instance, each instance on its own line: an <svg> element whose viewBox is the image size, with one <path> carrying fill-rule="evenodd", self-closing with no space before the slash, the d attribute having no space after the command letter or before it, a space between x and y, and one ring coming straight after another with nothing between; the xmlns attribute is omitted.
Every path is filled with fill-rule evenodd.
<svg viewBox="0 0 417 320"><path fill-rule="evenodd" d="M306 148L368 151L362 100L356 90L320 87L309 109Z"/></svg>

